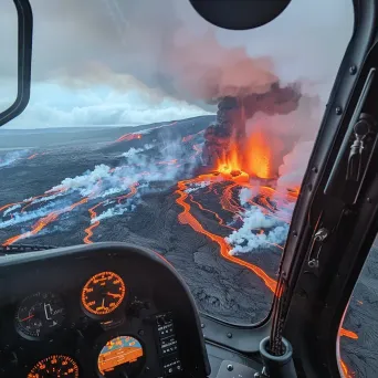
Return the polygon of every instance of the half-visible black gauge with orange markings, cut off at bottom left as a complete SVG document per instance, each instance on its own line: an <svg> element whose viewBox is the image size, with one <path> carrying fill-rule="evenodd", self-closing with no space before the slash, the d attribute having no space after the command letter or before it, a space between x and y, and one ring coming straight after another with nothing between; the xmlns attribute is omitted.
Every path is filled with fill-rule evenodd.
<svg viewBox="0 0 378 378"><path fill-rule="evenodd" d="M53 355L40 360L28 374L28 378L48 377L78 378L77 364L71 357Z"/></svg>

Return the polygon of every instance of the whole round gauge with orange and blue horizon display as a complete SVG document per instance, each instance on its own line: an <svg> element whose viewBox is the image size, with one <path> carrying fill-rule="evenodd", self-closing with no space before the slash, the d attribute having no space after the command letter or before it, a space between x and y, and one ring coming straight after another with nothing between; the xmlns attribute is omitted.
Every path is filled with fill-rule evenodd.
<svg viewBox="0 0 378 378"><path fill-rule="evenodd" d="M140 372L144 361L140 343L132 336L118 336L101 349L97 367L103 377L116 370L124 372L125 377L135 377Z"/></svg>

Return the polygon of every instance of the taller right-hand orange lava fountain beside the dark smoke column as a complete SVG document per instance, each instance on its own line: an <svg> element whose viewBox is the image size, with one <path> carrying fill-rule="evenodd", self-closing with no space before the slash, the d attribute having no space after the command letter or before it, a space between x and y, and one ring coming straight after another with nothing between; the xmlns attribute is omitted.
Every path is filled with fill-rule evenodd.
<svg viewBox="0 0 378 378"><path fill-rule="evenodd" d="M265 135L261 129L252 133L248 140L245 149L246 168L245 170L251 175L262 179L271 178L273 175L271 161L272 150L266 140Z"/></svg>

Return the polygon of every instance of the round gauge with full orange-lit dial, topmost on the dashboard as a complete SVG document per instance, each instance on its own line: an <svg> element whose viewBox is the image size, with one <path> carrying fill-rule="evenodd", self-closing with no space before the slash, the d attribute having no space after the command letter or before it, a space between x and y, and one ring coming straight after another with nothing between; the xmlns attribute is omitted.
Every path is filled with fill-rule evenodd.
<svg viewBox="0 0 378 378"><path fill-rule="evenodd" d="M97 273L91 277L82 291L84 308L94 315L114 312L126 294L124 281L113 272Z"/></svg>

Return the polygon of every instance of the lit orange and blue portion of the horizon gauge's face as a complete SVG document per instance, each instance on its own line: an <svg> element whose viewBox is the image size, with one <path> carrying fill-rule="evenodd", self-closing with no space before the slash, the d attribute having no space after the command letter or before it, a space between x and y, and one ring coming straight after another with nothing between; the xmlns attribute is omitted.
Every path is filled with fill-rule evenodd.
<svg viewBox="0 0 378 378"><path fill-rule="evenodd" d="M97 365L99 372L105 376L124 364L134 364L143 357L140 343L132 336L118 336L107 342L99 353Z"/></svg>

